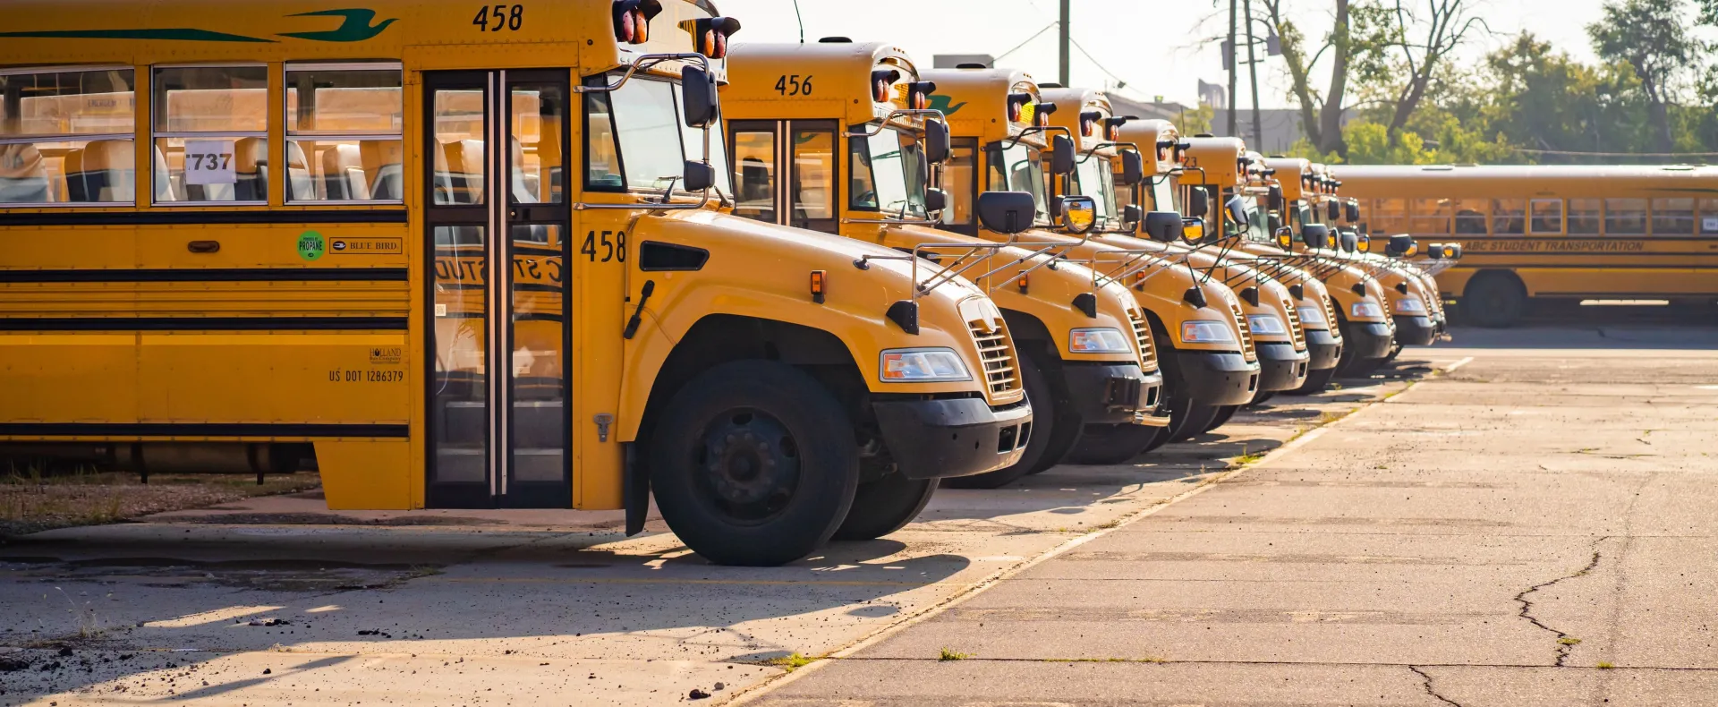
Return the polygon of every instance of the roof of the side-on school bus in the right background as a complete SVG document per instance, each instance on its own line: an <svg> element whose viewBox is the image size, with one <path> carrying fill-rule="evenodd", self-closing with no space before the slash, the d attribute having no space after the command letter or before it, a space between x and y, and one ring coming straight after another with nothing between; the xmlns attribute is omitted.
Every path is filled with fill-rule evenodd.
<svg viewBox="0 0 1718 707"><path fill-rule="evenodd" d="M1718 196L1718 169L1689 165L1331 165L1343 196Z"/></svg>

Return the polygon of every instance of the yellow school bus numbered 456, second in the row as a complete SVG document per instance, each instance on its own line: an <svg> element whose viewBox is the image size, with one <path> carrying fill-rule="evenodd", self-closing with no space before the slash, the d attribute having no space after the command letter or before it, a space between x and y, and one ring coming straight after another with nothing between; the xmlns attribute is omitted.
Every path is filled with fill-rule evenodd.
<svg viewBox="0 0 1718 707"><path fill-rule="evenodd" d="M996 301L1033 403L1033 439L1014 466L947 485L993 489L1043 471L1087 427L1165 427L1151 330L1127 287L1065 261L1062 244L1022 236L1000 246L936 229L936 217L983 212L998 196L950 205L931 188L935 172L971 169L971 153L952 155L943 114L928 108L935 89L912 57L886 43L734 45L722 88L734 213L960 270ZM1022 213L1019 231L1031 222Z"/></svg>

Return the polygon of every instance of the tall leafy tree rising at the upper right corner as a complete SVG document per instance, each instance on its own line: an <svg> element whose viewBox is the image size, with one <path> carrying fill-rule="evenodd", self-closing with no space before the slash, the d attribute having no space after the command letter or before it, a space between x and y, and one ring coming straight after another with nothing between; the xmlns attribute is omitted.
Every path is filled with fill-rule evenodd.
<svg viewBox="0 0 1718 707"><path fill-rule="evenodd" d="M1605 15L1587 26L1593 50L1605 60L1624 62L1641 81L1656 129L1656 150L1675 148L1670 131L1670 103L1709 52L1691 31L1684 0L1622 0L1605 3Z"/></svg>

